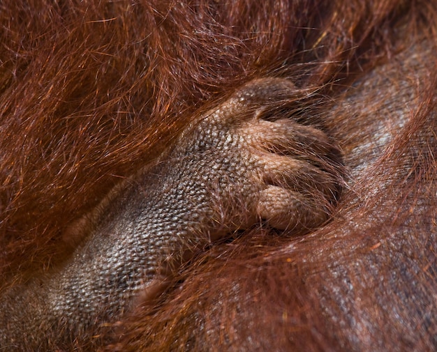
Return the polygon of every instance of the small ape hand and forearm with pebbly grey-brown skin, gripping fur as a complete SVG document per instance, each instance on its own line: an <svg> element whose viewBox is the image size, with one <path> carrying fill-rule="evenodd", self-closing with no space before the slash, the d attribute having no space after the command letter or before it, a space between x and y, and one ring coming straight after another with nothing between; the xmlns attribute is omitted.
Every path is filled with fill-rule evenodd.
<svg viewBox="0 0 437 352"><path fill-rule="evenodd" d="M332 142L265 114L294 93L285 79L246 84L112 191L68 231L87 235L62 268L3 294L0 349L61 346L116 322L135 297L161 292L196 250L239 229L265 222L301 234L323 224L339 185L327 171L339 167Z"/></svg>

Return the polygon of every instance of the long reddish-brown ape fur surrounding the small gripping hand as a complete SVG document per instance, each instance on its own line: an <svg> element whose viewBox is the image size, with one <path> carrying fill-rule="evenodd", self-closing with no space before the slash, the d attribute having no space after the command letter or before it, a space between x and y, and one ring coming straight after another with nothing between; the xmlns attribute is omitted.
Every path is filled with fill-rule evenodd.
<svg viewBox="0 0 437 352"><path fill-rule="evenodd" d="M59 263L75 243L63 231L193 114L254 77L289 77L318 91L311 113L325 116L346 167L371 160L332 222L304 238L253 229L212 248L96 341L109 351L436 349L436 1L97 3L0 4L3 287ZM392 89L371 78L378 67ZM408 77L413 97L399 93ZM360 78L370 83L351 88ZM408 106L406 123L369 144L372 121L397 122L387 100Z"/></svg>

